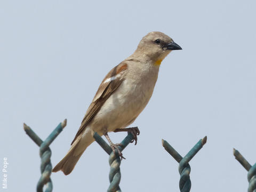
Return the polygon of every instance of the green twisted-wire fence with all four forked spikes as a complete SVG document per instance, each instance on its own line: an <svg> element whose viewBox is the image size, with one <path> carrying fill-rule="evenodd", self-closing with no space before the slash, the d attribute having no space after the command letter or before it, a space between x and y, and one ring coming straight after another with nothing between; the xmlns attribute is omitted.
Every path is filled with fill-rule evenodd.
<svg viewBox="0 0 256 192"><path fill-rule="evenodd" d="M24 130L28 134L28 136L39 146L39 155L41 157L41 177L38 180L36 191L43 192L43 188L45 186L45 192L50 192L53 189L52 181L50 178L52 172L52 164L51 164L51 149L50 144L52 141L59 135L59 133L63 130L63 128L67 124L67 119L65 119L62 123L60 123L53 132L43 141L40 139L37 134L30 129L25 123L23 125ZM117 150L115 153L108 145L108 143L103 140L99 134L94 133L93 135L95 141L102 147L103 150L109 155L109 182L110 185L107 189L108 192L121 192L121 188L119 187L119 183L121 181L121 158L118 155ZM119 150L124 150L127 145L133 140L133 136L129 133L124 140L121 142L121 145L118 146ZM179 163L179 173L180 173L180 182L179 187L180 191L188 192L191 188L191 180L189 177L190 174L190 165L189 161L197 154L197 152L202 149L204 144L206 143L207 137L205 136L203 139L200 139L196 145L188 152L187 155L182 157L167 141L162 140L162 145L165 150ZM256 192L256 163L252 166L250 163L246 161L246 159L239 153L238 150L234 149L234 156L241 165L248 171L247 179L249 181L248 192Z"/></svg>

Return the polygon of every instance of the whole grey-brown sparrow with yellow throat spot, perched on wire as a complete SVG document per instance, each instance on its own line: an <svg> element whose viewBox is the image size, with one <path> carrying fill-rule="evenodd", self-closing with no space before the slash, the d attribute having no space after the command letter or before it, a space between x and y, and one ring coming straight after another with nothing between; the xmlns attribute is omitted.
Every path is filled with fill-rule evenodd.
<svg viewBox="0 0 256 192"><path fill-rule="evenodd" d="M105 135L110 147L113 151L117 149L121 157L121 151L111 142L108 132L131 132L137 143L138 127L126 127L146 107L154 91L159 66L172 50L181 50L181 47L164 33L150 32L141 39L130 57L109 71L87 109L67 155L52 172L71 173L84 150L94 141L94 132Z"/></svg>

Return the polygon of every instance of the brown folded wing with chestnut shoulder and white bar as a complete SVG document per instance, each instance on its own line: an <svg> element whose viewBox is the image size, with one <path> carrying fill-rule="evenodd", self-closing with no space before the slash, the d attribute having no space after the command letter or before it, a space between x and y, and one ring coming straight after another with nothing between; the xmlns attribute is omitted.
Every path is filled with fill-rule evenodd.
<svg viewBox="0 0 256 192"><path fill-rule="evenodd" d="M121 62L119 65L114 67L109 71L106 77L101 82L98 91L96 92L91 105L86 111L84 119L81 123L79 130L76 133L74 140L71 145L76 140L79 134L81 134L92 118L98 113L101 106L110 97L110 95L121 85L124 80L124 71L127 69L127 64Z"/></svg>

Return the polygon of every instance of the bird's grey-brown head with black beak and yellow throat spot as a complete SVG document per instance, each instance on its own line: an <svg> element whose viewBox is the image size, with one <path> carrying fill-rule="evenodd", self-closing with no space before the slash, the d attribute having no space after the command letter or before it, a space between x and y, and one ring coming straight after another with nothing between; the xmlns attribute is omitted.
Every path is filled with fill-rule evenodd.
<svg viewBox="0 0 256 192"><path fill-rule="evenodd" d="M155 65L160 65L172 50L181 50L181 47L171 37L162 32L154 31L141 39L136 51L147 55L155 62Z"/></svg>

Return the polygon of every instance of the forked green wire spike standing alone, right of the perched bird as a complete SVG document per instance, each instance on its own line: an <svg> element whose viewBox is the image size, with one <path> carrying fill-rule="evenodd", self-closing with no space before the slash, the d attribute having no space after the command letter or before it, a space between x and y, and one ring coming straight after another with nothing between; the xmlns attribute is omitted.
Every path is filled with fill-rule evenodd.
<svg viewBox="0 0 256 192"><path fill-rule="evenodd" d="M196 145L188 152L185 157L182 157L167 141L162 139L162 145L164 149L179 163L179 173L180 173L180 191L189 192L191 189L191 180L189 177L190 174L190 165L188 162L197 154L197 152L202 149L204 144L207 141L205 136L203 139L200 139Z"/></svg>

